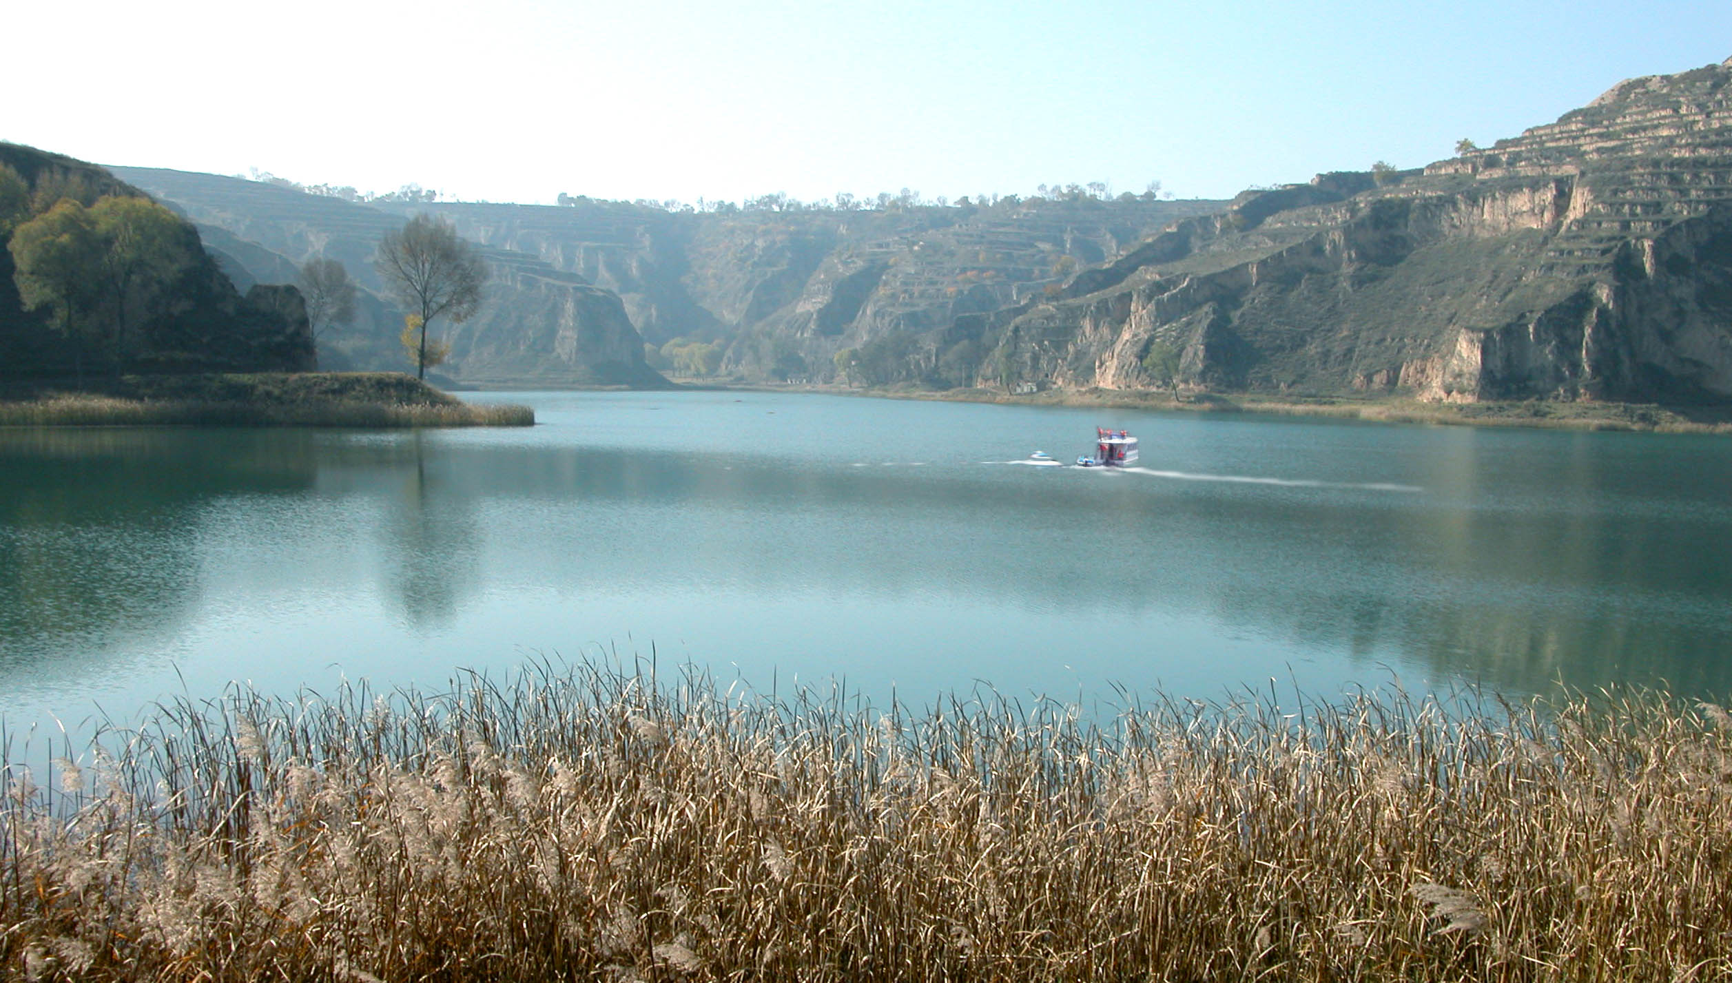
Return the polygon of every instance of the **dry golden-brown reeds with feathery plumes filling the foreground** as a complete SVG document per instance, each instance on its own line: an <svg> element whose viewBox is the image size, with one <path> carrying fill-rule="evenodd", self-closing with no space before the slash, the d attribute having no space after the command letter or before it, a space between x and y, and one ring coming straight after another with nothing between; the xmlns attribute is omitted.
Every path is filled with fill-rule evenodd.
<svg viewBox="0 0 1732 983"><path fill-rule="evenodd" d="M9 768L9 974L1732 976L1732 720L1663 694L1091 723L580 665L100 744Z"/></svg>

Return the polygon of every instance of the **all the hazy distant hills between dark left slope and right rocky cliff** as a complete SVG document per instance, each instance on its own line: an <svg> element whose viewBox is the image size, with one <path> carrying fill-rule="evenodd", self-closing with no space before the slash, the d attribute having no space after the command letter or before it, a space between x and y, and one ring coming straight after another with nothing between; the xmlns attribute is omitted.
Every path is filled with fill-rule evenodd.
<svg viewBox="0 0 1732 983"><path fill-rule="evenodd" d="M475 382L558 382L563 369L547 355L546 318L572 310L575 320L561 329L568 341L559 344L587 344L601 324L596 315L615 303L651 346L674 339L726 346L722 370L736 377L828 379L838 350L902 334L937 344L961 315L1041 296L1072 270L1119 256L1174 218L1225 204L1152 196L734 213L589 199L572 206L362 204L215 175L116 173L175 202L210 239L239 241L229 254L262 282L284 275L268 254L300 263L324 251L378 291L371 249L383 230L416 211L449 218L504 270L481 320L454 334L450 370ZM577 294L570 305L566 289ZM369 317L393 312L364 313L334 337L362 367L391 357L381 341L386 327ZM913 360L908 365L908 372L918 369Z"/></svg>

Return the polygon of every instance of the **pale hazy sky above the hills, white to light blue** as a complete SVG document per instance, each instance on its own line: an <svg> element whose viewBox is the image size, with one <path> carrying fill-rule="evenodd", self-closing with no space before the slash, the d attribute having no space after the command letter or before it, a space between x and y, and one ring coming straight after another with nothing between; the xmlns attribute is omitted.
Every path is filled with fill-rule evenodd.
<svg viewBox="0 0 1732 983"><path fill-rule="evenodd" d="M7 3L0 140L551 202L1420 166L1732 55L1732 2Z"/></svg>

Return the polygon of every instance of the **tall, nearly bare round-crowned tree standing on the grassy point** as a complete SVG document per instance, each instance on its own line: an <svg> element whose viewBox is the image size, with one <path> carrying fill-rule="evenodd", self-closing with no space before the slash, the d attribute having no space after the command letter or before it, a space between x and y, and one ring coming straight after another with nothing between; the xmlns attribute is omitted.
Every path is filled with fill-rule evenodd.
<svg viewBox="0 0 1732 983"><path fill-rule="evenodd" d="M487 263L447 222L417 215L398 232L386 232L374 260L397 299L419 317L416 377L428 374L428 325L436 317L461 324L481 305Z"/></svg>

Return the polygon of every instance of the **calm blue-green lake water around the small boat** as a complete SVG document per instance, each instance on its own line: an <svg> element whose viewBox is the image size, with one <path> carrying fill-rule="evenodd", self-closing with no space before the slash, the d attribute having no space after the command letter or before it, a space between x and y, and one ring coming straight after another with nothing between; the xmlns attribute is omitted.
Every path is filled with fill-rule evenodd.
<svg viewBox="0 0 1732 983"><path fill-rule="evenodd" d="M759 393L533 429L0 429L0 713L655 658L921 704L1732 691L1732 441ZM1126 472L1074 460L1129 427Z"/></svg>

